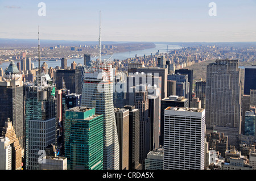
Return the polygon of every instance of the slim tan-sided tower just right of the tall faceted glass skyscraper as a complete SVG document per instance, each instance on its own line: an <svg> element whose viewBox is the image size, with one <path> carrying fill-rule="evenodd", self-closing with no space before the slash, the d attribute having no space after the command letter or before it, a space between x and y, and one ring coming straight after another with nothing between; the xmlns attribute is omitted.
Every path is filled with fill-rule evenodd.
<svg viewBox="0 0 256 181"><path fill-rule="evenodd" d="M119 141L119 170L129 170L129 110L115 109Z"/></svg>

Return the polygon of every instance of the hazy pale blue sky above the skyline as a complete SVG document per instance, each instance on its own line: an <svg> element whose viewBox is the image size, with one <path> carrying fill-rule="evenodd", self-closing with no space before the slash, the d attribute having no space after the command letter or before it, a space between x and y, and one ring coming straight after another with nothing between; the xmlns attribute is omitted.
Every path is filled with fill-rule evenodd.
<svg viewBox="0 0 256 181"><path fill-rule="evenodd" d="M97 41L100 10L102 41L256 41L256 0L0 0L0 37Z"/></svg>

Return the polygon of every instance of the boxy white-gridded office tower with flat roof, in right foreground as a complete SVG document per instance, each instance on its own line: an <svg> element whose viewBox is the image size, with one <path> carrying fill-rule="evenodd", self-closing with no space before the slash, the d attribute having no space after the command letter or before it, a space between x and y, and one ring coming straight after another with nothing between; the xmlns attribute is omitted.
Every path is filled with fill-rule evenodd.
<svg viewBox="0 0 256 181"><path fill-rule="evenodd" d="M205 110L164 110L164 170L204 170Z"/></svg>

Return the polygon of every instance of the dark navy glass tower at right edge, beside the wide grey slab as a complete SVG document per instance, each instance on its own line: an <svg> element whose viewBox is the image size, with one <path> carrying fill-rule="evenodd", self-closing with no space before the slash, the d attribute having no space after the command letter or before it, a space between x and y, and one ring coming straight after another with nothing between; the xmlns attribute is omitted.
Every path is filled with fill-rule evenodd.
<svg viewBox="0 0 256 181"><path fill-rule="evenodd" d="M245 86L243 94L250 95L250 90L256 89L256 65L245 66Z"/></svg>

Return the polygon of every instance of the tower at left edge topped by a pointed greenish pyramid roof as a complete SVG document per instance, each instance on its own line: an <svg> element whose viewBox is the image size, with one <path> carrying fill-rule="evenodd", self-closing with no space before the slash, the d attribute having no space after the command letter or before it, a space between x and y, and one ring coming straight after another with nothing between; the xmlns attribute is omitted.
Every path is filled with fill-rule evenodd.
<svg viewBox="0 0 256 181"><path fill-rule="evenodd" d="M24 94L22 75L12 61L5 75L0 77L0 127L8 118L13 123L19 144L24 149Z"/></svg>

